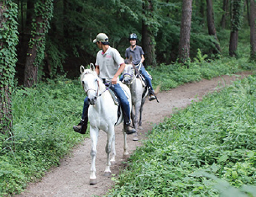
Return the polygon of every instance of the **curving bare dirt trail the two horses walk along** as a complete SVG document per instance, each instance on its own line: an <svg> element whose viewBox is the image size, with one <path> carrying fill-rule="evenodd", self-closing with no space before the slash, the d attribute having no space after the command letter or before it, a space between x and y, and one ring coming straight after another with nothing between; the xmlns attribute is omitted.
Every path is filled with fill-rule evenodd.
<svg viewBox="0 0 256 197"><path fill-rule="evenodd" d="M251 72L238 74L243 78ZM176 108L184 108L192 100L201 99L203 95L218 90L224 85L229 85L237 79L237 76L223 76L211 80L203 79L200 82L181 85L167 92L160 92L156 101L146 101L143 111L143 130L139 133L139 139L145 138L145 133L152 127L170 116ZM70 132L72 125L70 125ZM129 153L132 153L141 142L133 142L132 135L127 137ZM25 192L15 197L93 197L103 196L114 184L111 177L104 177L103 172L106 164L106 134L100 131L97 145L96 175L97 184L89 185L90 173L90 139L85 139L82 145L76 147L72 154L62 159L60 166L53 168L46 176L37 183L30 183ZM121 127L116 127L116 164L111 166L112 177L117 176L123 167L123 134Z"/></svg>

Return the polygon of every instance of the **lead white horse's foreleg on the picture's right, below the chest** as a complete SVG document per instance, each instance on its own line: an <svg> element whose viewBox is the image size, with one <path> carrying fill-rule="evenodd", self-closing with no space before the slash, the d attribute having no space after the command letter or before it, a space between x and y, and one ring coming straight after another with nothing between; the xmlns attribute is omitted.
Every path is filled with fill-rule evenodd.
<svg viewBox="0 0 256 197"><path fill-rule="evenodd" d="M110 128L109 131L107 132L107 145L106 145L106 153L107 153L107 165L106 169L104 171L105 176L110 176L111 171L110 171L110 153L111 153L111 146L112 146L112 141L114 137L114 126L113 128Z"/></svg>

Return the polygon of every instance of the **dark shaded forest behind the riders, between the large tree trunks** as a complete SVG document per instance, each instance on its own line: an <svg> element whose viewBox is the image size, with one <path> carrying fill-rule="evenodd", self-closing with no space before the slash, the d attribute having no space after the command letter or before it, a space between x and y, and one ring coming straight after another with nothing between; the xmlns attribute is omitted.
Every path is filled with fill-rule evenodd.
<svg viewBox="0 0 256 197"><path fill-rule="evenodd" d="M17 1L19 42L15 78L19 85L24 83L25 61L28 43L32 37L36 2ZM216 38L209 35L207 28L208 2L194 0L191 4L191 59L196 57L197 49L200 49L202 54L207 54L208 58L216 58ZM225 40L225 45L229 44L230 38L227 36L234 18L234 2L215 0L210 5L218 39ZM241 2L242 27L248 29L249 2ZM49 20L49 31L45 34L45 51L42 54L43 61L39 65L38 78L55 77L57 73L68 73L69 78L77 77L81 64L95 62L98 49L92 40L99 32L109 36L110 45L117 48L122 56L125 48L129 46L129 34L136 33L139 37L138 44L143 47L145 53L148 49L153 49L152 54L145 54L146 66L171 64L179 55L181 15L181 0L55 0L52 18ZM223 47L220 45L220 49ZM225 55L225 51L221 52Z"/></svg>

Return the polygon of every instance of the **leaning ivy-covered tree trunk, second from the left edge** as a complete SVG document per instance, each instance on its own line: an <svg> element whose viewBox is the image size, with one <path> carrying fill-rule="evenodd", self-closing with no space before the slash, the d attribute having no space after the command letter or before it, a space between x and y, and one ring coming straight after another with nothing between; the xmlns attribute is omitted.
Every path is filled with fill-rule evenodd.
<svg viewBox="0 0 256 197"><path fill-rule="evenodd" d="M31 38L26 54L24 86L32 87L37 84L38 69L44 59L45 35L52 18L53 0L39 0L35 4L34 22L32 21Z"/></svg>

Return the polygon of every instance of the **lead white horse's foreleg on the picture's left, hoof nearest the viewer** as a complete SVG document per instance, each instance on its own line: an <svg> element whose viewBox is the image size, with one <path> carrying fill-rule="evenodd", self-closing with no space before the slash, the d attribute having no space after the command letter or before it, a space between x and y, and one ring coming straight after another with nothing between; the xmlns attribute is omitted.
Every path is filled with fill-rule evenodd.
<svg viewBox="0 0 256 197"><path fill-rule="evenodd" d="M90 126L90 136L92 141L92 149L91 149L91 174L90 174L90 185L94 185L97 183L96 180L96 167L95 167L95 160L96 160L96 147L97 147L97 141L98 141L98 128L93 128Z"/></svg>

